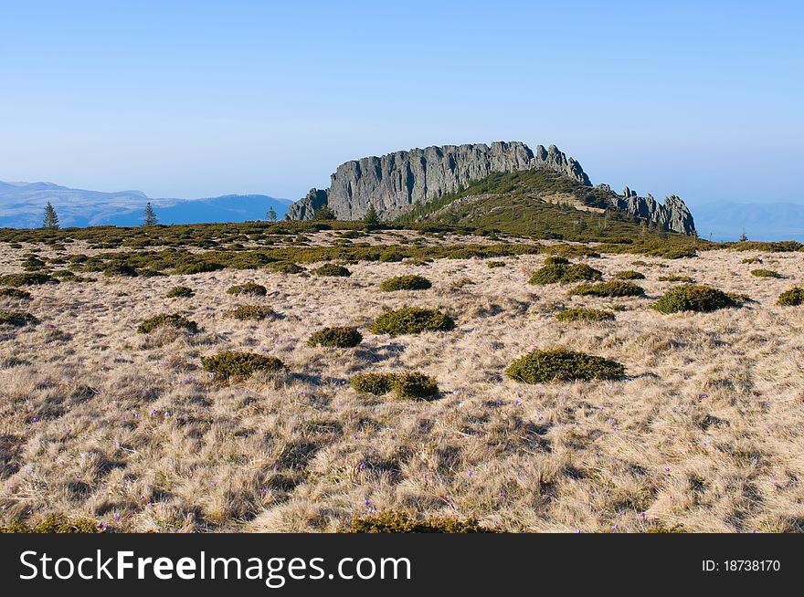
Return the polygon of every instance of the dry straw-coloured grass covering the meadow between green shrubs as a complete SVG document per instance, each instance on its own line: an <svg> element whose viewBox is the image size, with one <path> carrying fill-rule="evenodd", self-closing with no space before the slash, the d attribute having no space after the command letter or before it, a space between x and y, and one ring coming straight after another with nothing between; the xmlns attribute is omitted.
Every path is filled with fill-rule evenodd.
<svg viewBox="0 0 804 597"><path fill-rule="evenodd" d="M440 242L440 241L439 241ZM25 252L3 247L4 271ZM104 278L0 299L36 327L0 329L2 519L67 512L123 530L320 531L389 508L453 514L513 531L792 531L804 527L804 318L776 306L804 278L801 254L761 255L785 279L755 278L745 254L639 268L644 298L568 296L534 288L542 256L360 263L351 278L219 271ZM655 260L655 259L654 259ZM605 278L633 256L580 260ZM7 265L10 264L10 265ZM380 292L392 276L433 288ZM671 274L756 303L708 314L649 306ZM268 288L250 304L283 317L227 319L234 284ZM191 299L164 299L178 284ZM623 305L616 321L562 323L563 307ZM384 309L437 308L449 332L368 333ZM143 319L180 312L188 335ZM307 346L313 330L355 326L354 349ZM505 367L565 347L619 361L624 382L528 386ZM279 379L222 384L200 369L218 351L286 362ZM351 375L417 371L441 397L358 395Z"/></svg>

